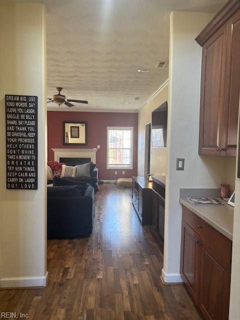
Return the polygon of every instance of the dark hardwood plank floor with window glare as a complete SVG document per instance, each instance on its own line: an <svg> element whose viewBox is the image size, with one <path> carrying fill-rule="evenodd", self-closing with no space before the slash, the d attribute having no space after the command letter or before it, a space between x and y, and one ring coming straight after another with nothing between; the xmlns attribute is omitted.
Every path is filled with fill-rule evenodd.
<svg viewBox="0 0 240 320"><path fill-rule="evenodd" d="M131 189L103 184L92 235L48 240L48 285L0 290L0 312L31 319L199 320L183 285L163 285L162 253L131 205Z"/></svg>

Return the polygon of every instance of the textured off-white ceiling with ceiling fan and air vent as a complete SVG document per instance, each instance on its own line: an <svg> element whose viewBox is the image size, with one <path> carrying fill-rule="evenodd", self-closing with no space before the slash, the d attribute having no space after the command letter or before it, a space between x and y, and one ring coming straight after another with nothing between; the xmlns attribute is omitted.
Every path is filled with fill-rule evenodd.
<svg viewBox="0 0 240 320"><path fill-rule="evenodd" d="M154 66L168 60L170 11L216 12L225 0L28 2L47 7L47 97L61 86L67 98L89 102L72 108L48 103L48 109L129 111L168 77L168 65Z"/></svg>

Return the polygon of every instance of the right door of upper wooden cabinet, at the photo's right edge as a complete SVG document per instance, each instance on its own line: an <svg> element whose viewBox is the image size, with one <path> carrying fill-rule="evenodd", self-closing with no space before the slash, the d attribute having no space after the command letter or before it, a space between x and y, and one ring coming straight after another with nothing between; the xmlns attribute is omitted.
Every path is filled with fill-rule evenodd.
<svg viewBox="0 0 240 320"><path fill-rule="evenodd" d="M236 156L237 120L240 91L240 10L228 20L225 155Z"/></svg>

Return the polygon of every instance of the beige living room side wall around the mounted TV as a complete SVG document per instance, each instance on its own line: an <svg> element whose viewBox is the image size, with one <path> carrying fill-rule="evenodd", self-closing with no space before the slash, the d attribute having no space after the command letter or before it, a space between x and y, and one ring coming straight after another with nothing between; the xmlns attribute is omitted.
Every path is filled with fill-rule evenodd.
<svg viewBox="0 0 240 320"><path fill-rule="evenodd" d="M137 174L144 175L145 164L145 126L151 122L151 112L168 98L168 85L142 106L138 113L138 159ZM166 148L152 148L150 160L151 174L166 174Z"/></svg>

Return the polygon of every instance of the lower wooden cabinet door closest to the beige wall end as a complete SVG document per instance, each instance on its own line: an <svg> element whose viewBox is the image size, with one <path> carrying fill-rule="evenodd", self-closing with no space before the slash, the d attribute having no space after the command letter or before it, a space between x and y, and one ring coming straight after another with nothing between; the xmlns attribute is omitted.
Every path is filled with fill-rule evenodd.
<svg viewBox="0 0 240 320"><path fill-rule="evenodd" d="M180 272L196 304L199 299L200 237L182 221Z"/></svg>

